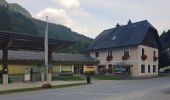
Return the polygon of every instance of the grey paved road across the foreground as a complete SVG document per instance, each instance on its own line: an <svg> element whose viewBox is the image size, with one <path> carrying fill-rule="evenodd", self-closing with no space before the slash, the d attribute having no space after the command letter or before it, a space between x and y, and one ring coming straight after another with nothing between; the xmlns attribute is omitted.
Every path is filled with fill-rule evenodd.
<svg viewBox="0 0 170 100"><path fill-rule="evenodd" d="M2 95L0 100L170 100L170 78L97 81L79 87Z"/></svg>

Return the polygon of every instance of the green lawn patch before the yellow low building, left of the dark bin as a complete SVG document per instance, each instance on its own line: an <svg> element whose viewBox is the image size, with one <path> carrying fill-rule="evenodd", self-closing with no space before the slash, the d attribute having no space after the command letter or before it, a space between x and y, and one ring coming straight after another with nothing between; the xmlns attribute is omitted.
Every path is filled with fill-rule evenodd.
<svg viewBox="0 0 170 100"><path fill-rule="evenodd" d="M83 77L81 76L57 76L53 77L53 80L62 80L62 81L79 81L79 80L84 80Z"/></svg>

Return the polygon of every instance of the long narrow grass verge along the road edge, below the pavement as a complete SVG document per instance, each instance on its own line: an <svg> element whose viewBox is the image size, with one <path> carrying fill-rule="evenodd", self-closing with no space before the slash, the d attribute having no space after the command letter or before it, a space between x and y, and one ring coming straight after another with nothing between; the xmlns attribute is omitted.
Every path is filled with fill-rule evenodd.
<svg viewBox="0 0 170 100"><path fill-rule="evenodd" d="M80 86L80 85L86 85L86 84L87 83L73 83L73 84L65 84L65 85L54 85L54 86L52 86L52 88L34 87L34 88L6 90L6 91L0 91L0 95L10 94L10 93L38 91L38 90L47 90L47 89L56 89L56 88L66 88L66 87Z"/></svg>

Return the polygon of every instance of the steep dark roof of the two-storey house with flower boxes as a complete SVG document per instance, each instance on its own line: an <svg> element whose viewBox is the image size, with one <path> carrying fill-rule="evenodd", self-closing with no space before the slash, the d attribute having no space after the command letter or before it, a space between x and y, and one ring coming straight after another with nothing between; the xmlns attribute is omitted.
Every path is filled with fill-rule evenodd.
<svg viewBox="0 0 170 100"><path fill-rule="evenodd" d="M156 30L147 20L144 20L104 30L87 51L142 44L149 28Z"/></svg>

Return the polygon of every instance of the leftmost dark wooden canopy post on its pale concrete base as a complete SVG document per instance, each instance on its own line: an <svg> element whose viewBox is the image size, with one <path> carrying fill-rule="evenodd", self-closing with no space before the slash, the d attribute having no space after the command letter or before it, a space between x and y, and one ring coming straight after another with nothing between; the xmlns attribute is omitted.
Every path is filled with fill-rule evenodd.
<svg viewBox="0 0 170 100"><path fill-rule="evenodd" d="M8 48L4 46L2 51L3 84L8 84Z"/></svg>

